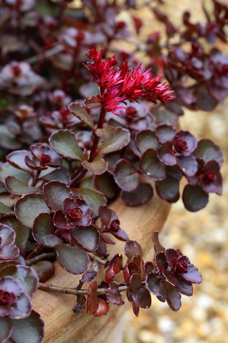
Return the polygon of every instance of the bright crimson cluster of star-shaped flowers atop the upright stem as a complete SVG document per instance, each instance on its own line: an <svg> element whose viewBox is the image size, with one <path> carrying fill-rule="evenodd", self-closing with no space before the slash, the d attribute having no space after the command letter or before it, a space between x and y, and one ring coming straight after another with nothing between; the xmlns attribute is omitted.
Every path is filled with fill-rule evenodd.
<svg viewBox="0 0 228 343"><path fill-rule="evenodd" d="M90 61L85 66L93 75L93 81L100 87L102 101L106 111L119 115L118 110L125 109L120 103L128 99L138 100L140 96L156 103L169 102L174 98L173 91L167 91L166 82L159 83L161 76L153 78L150 69L142 71L142 63L136 70L128 67L128 62L122 63L120 68L115 68L118 60L115 56L102 61L103 50L96 51L96 46L89 50L86 56Z"/></svg>

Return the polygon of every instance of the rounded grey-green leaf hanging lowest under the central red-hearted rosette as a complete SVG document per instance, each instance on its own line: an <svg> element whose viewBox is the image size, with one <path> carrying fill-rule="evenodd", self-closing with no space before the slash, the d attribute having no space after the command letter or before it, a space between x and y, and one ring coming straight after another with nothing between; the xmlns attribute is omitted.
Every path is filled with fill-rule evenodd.
<svg viewBox="0 0 228 343"><path fill-rule="evenodd" d="M80 248L61 244L55 250L59 264L69 273L78 275L88 268L89 256Z"/></svg>

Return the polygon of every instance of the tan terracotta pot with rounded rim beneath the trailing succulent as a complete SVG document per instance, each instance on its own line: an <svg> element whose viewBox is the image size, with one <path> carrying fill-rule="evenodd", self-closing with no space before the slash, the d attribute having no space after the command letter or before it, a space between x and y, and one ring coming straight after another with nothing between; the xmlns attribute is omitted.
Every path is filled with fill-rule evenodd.
<svg viewBox="0 0 228 343"><path fill-rule="evenodd" d="M121 227L129 235L129 239L137 240L144 252L144 261L151 251L151 234L161 230L169 213L170 205L157 194L146 204L132 208L124 205L118 199L110 206L119 219ZM116 245L108 246L108 253L122 253L124 256L124 242L115 240ZM55 262L56 272L47 283L65 287L77 287L81 275L72 275ZM104 280L105 269L100 266L96 280ZM119 280L118 280L119 278ZM122 273L117 274L115 281L122 281ZM85 284L85 286L87 286ZM76 305L76 296L46 292L38 289L32 297L33 309L38 311L45 323L44 343L117 343L121 335L121 316L131 306L123 295L125 304L116 306L110 304L109 313L103 317L94 317L86 310L78 316L72 311ZM117 326L118 324L118 326ZM119 326L120 325L120 326Z"/></svg>

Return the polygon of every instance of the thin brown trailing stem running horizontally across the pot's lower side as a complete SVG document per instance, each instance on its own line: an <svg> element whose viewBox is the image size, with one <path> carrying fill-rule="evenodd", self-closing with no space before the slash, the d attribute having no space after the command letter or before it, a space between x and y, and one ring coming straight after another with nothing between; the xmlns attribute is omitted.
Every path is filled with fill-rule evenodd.
<svg viewBox="0 0 228 343"><path fill-rule="evenodd" d="M145 286L145 281L142 282L141 286ZM55 285L49 285L46 283L39 282L39 289L43 289L44 291L54 292L54 293L62 293L62 294L73 294L73 295L87 295L88 289L79 289L77 291L76 288L67 288ZM126 292L128 291L128 286L120 286L118 287L118 292ZM107 288L98 288L97 294L106 294Z"/></svg>

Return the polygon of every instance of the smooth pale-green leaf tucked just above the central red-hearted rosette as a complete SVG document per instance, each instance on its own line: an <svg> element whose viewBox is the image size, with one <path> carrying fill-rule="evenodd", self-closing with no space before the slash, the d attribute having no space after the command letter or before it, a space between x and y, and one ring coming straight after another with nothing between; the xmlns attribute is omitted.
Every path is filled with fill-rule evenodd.
<svg viewBox="0 0 228 343"><path fill-rule="evenodd" d="M75 188L74 191L79 197L82 197L94 212L94 216L98 216L98 209L101 205L107 203L104 194L92 188Z"/></svg>

